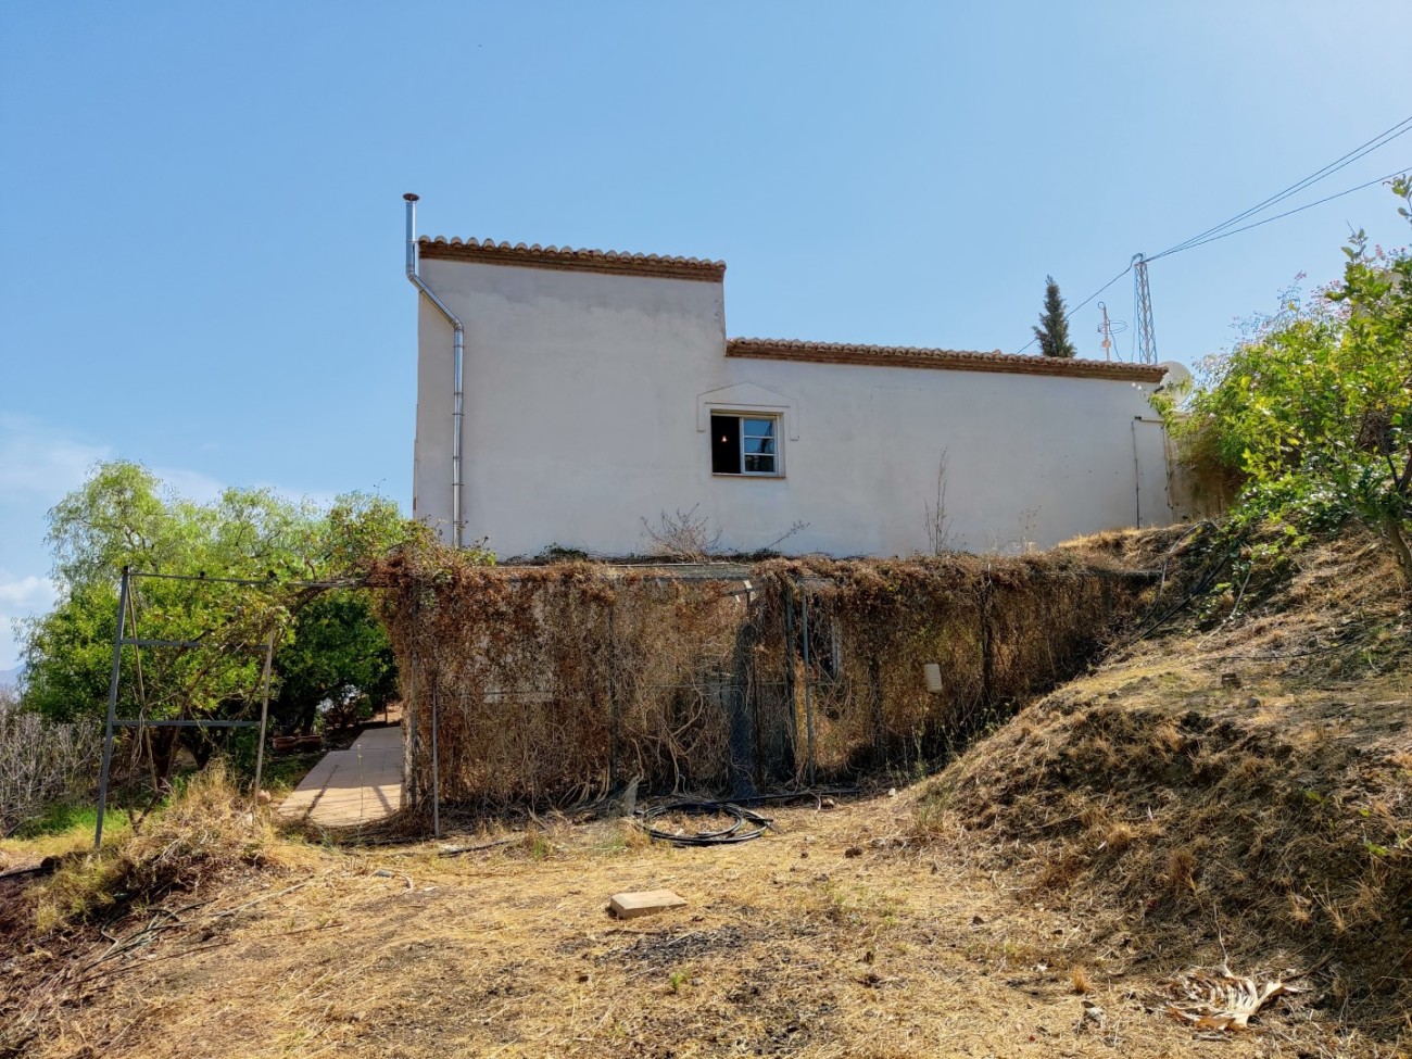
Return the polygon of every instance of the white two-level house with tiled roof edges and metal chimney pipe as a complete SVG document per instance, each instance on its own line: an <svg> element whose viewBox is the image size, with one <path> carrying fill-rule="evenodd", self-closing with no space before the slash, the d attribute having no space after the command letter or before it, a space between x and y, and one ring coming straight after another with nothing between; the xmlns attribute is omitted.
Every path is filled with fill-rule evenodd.
<svg viewBox="0 0 1412 1059"><path fill-rule="evenodd" d="M911 555L939 484L970 551L1173 520L1161 367L727 339L723 261L414 241L414 201L412 510L448 541L623 556L695 511L723 549Z"/></svg>

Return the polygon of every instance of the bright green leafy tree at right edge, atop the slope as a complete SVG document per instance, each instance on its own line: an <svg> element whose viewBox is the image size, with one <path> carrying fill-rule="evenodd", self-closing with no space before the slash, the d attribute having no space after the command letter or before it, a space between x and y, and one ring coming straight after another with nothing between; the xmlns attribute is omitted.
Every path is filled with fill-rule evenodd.
<svg viewBox="0 0 1412 1059"><path fill-rule="evenodd" d="M1344 254L1341 281L1308 305L1286 295L1172 425L1189 466L1241 483L1237 525L1282 522L1298 544L1357 518L1412 582L1412 254L1361 232Z"/></svg>

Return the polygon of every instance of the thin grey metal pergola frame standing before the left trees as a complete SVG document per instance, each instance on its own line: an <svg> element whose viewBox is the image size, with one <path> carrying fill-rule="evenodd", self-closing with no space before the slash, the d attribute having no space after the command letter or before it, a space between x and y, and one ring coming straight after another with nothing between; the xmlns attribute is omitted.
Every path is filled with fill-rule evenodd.
<svg viewBox="0 0 1412 1059"><path fill-rule="evenodd" d="M185 580L195 582L198 585L247 585L247 586L281 586L291 589L352 589L361 587L364 582L361 579L345 579L345 580L278 580L275 578L208 578L205 573L158 573L155 570L134 570L131 566L123 566L123 575L119 582L117 592L117 620L116 634L113 637L113 671L109 678L107 685L107 720L103 726L103 764L99 771L99 786L97 786L97 822L93 826L93 849L100 849L103 844L103 818L107 813L107 789L109 778L113 762L113 741L116 738L116 729L260 729L260 741L256 748L256 784L254 784L254 798L260 796L260 782L264 774L264 744L265 734L270 724L270 668L274 662L274 638L275 630L271 628L270 634L265 637L263 645L249 645L247 651L263 651L264 665L260 674L260 720L213 720L213 719L179 719L179 720L148 720L144 716L138 717L119 717L117 716L117 688L119 678L123 668L123 648L131 647L137 651L137 679L138 679L138 693L141 692L141 648L144 647L168 647L182 651L188 651L195 647L205 647L199 640L145 640L137 635L137 611L133 606L131 586L133 580L138 578L155 578L161 580ZM128 614L131 614L131 623L128 623ZM131 624L133 635L127 635L128 624ZM145 703L144 703L145 705Z"/></svg>

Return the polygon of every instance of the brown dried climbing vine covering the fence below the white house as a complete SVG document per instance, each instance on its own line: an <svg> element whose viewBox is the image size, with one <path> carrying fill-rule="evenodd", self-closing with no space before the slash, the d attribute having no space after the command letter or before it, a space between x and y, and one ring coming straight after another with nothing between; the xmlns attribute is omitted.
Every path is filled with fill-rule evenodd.
<svg viewBox="0 0 1412 1059"><path fill-rule="evenodd" d="M373 583L415 731L414 801L429 789L433 706L449 802L921 770L1073 675L1144 590L1073 554L717 570L498 568L438 545L384 561Z"/></svg>

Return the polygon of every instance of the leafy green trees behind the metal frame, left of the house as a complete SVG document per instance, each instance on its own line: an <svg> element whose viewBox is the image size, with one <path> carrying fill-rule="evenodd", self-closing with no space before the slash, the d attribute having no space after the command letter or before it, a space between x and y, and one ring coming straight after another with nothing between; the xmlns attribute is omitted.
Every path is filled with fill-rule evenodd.
<svg viewBox="0 0 1412 1059"><path fill-rule="evenodd" d="M203 582L136 578L128 634L199 641L193 650L124 651L121 712L148 717L227 717L256 705L263 647L274 637L274 722L312 723L326 698L381 705L397 674L364 593L292 585L357 578L419 527L378 497L350 494L332 508L294 503L270 490L229 489L198 504L164 489L128 462L95 467L49 513L55 609L25 630L24 705L51 720L106 712L124 566L145 573L205 576ZM220 578L256 579L232 585ZM175 730L152 738L165 775ZM210 743L193 738L203 760Z"/></svg>

